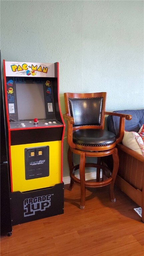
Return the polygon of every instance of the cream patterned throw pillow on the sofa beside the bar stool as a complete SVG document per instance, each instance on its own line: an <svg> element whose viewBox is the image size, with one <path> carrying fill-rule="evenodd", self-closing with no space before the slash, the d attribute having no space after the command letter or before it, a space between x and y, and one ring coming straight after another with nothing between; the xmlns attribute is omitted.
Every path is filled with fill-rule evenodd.
<svg viewBox="0 0 144 256"><path fill-rule="evenodd" d="M144 142L137 132L124 132L122 144L144 156Z"/></svg>

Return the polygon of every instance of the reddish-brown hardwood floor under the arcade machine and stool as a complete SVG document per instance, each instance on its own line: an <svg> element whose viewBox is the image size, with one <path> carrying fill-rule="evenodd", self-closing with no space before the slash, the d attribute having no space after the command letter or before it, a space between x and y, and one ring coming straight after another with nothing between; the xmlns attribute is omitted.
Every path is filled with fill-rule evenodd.
<svg viewBox="0 0 144 256"><path fill-rule="evenodd" d="M144 256L144 224L137 205L115 187L86 189L79 209L80 186L64 189L64 214L13 226L1 237L1 256Z"/></svg>

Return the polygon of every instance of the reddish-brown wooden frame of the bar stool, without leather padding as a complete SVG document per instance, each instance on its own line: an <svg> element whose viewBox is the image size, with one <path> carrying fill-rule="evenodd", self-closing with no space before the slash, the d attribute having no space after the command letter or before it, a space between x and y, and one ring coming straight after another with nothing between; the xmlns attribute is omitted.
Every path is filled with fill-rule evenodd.
<svg viewBox="0 0 144 256"><path fill-rule="evenodd" d="M68 163L70 169L70 188L72 190L74 182L80 184L81 186L81 202L80 202L80 209L84 209L85 207L85 188L86 187L100 187L106 186L110 184L110 198L111 201L115 202L114 197L114 183L118 171L119 166L119 158L117 153L117 148L115 147L117 143L121 142L124 136L124 124L125 119L130 120L132 117L131 115L113 113L113 112L106 112L105 105L106 105L106 92L100 93L85 93L85 94L78 94L78 93L64 93L65 98L65 107L66 107L66 114L63 115L64 119L67 120L68 130L67 130L67 141L69 144L68 149ZM103 97L103 107L102 107L102 114L101 114L101 123L99 126L94 125L86 125L86 126L73 126L74 125L74 118L70 115L69 109L69 98L95 98L95 97ZM104 119L105 115L116 115L120 117L120 124L119 124L119 134L116 138L116 142L111 145L106 146L84 146L75 144L73 142L73 131L78 129L104 129ZM80 155L80 164L74 166L73 164L73 153ZM110 175L110 172L106 166L101 165L101 157L112 155L113 157L113 171ZM85 163L85 157L98 157L97 164L95 163ZM96 167L96 182L90 182L85 180L85 167ZM80 179L76 178L74 172L79 169ZM103 170L103 174L107 177L106 180L100 181L100 169Z"/></svg>

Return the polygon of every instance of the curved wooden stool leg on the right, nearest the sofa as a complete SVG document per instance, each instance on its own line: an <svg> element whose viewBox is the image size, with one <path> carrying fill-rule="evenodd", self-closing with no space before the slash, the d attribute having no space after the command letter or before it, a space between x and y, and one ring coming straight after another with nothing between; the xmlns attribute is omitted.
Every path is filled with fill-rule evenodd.
<svg viewBox="0 0 144 256"><path fill-rule="evenodd" d="M117 148L114 148L114 153L112 154L112 156L113 156L113 172L112 172L112 182L110 184L110 198L112 202L115 202L116 199L114 197L114 184L115 184L115 179L116 179L118 167L119 167L119 157L118 157Z"/></svg>

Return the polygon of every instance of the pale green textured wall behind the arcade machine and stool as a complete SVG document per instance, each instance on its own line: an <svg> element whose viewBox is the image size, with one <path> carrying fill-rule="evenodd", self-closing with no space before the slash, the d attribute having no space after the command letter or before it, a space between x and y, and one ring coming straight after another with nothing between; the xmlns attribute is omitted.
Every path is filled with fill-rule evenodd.
<svg viewBox="0 0 144 256"><path fill-rule="evenodd" d="M143 1L1 1L6 61L59 62L64 92L107 92L106 110L144 107ZM64 141L64 176L68 176Z"/></svg>

